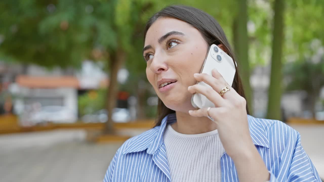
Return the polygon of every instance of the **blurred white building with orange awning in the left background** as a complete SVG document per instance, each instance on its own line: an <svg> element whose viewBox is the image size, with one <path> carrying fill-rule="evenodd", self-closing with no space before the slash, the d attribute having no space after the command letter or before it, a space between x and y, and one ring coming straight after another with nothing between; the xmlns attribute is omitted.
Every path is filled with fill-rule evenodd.
<svg viewBox="0 0 324 182"><path fill-rule="evenodd" d="M102 68L90 61L85 61L80 70L59 67L49 70L36 65L2 66L2 70L6 70L1 74L4 75L2 80L11 83L14 113L21 116L22 122L50 112L57 118L58 115L70 115L61 119L75 122L78 118L78 91L108 86L108 78Z"/></svg>

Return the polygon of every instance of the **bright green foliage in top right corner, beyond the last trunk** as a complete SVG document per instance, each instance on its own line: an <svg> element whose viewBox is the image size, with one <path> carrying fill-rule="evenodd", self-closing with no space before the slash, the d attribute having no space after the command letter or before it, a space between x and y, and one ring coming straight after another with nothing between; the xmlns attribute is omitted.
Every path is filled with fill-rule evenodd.
<svg viewBox="0 0 324 182"><path fill-rule="evenodd" d="M324 1L289 0L285 13L285 54L304 58L311 54L309 43L318 39L324 44Z"/></svg>

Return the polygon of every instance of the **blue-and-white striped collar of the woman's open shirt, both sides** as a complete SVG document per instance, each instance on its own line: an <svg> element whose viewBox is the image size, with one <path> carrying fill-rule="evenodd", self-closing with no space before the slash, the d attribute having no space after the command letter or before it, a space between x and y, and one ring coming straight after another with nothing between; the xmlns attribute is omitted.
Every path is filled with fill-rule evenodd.
<svg viewBox="0 0 324 182"><path fill-rule="evenodd" d="M124 154L141 152L146 150L147 154L155 153L163 143L163 133L168 124L176 122L176 114L168 114L161 121L160 126L156 126L151 130L145 131L144 133L131 138L127 143ZM248 115L250 136L254 145L269 148L269 140L266 132L262 129L260 120ZM126 144L126 143L125 143Z"/></svg>

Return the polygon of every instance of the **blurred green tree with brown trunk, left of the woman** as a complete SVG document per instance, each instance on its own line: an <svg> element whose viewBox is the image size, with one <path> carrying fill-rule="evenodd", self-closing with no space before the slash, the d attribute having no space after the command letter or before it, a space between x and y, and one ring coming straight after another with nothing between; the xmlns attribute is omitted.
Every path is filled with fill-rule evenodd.
<svg viewBox="0 0 324 182"><path fill-rule="evenodd" d="M0 55L48 68L78 67L85 59L104 61L110 73L105 132L113 133L117 72L134 52L131 42L138 39L141 15L150 6L149 1L132 0L1 1Z"/></svg>

